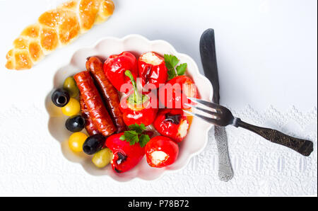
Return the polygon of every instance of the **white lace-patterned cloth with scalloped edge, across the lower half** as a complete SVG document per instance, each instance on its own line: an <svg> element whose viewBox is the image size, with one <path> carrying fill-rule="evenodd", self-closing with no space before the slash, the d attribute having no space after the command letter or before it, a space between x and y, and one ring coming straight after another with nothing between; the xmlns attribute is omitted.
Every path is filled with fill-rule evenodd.
<svg viewBox="0 0 318 211"><path fill-rule="evenodd" d="M250 106L235 115L288 135L310 139L310 157L228 127L234 178L218 180L218 152L213 131L204 152L177 173L156 181L118 183L90 176L79 164L66 161L59 142L49 138L46 111L38 106L0 112L0 195L314 195L317 194L317 108L301 113L291 107L257 112ZM36 120L28 124L30 120ZM3 130L6 128L6 130ZM291 130L293 128L293 130ZM4 132L5 131L5 132ZM293 131L293 132L290 132Z"/></svg>

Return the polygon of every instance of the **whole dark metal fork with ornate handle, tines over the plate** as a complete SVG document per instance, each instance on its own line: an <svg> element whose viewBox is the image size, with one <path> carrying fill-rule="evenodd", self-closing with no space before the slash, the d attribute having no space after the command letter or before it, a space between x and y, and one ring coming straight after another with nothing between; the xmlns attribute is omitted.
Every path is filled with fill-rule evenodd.
<svg viewBox="0 0 318 211"><path fill-rule="evenodd" d="M230 110L222 105L218 105L216 103L211 103L208 101L202 101L196 98L189 98L189 100L191 100L194 103L198 103L199 105L205 105L206 107L211 108L213 110L208 110L206 108L202 108L199 106L186 104L191 108L201 110L206 115L193 113L188 110L184 110L184 112L188 113L189 115L193 115L197 118L201 118L206 122L210 122L213 125L218 125L220 127L232 125L235 127L245 128L247 130L255 132L257 135L260 135L261 137L264 137L270 142L281 144L285 147L293 149L296 152L302 154L303 156L310 156L310 154L313 151L313 143L309 140L290 137L288 135L283 134L282 132L279 132L278 130L250 125L247 122L243 122L240 118L235 118L230 112Z"/></svg>

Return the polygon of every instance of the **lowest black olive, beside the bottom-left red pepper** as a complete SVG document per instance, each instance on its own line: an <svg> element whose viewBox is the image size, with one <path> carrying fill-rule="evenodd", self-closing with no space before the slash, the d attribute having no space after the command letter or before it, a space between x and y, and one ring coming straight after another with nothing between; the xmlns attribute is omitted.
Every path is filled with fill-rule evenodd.
<svg viewBox="0 0 318 211"><path fill-rule="evenodd" d="M86 154L95 154L104 146L106 138L103 135L96 134L88 137L83 144L83 151Z"/></svg>

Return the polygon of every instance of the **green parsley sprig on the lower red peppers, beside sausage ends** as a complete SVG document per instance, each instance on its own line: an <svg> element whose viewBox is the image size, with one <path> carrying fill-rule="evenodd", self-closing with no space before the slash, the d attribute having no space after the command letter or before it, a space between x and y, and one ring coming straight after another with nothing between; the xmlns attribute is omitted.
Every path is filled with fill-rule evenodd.
<svg viewBox="0 0 318 211"><path fill-rule="evenodd" d="M138 125L136 123L134 125L129 125L128 128L129 131L125 131L124 135L122 135L119 139L129 142L130 145L139 143L141 147L145 147L150 140L148 135L143 134L143 131L146 130L145 125Z"/></svg>

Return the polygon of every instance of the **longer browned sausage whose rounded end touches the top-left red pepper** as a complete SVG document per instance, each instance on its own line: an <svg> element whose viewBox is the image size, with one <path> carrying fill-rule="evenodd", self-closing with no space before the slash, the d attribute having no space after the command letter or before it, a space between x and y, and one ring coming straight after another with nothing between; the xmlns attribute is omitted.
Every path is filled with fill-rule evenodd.
<svg viewBox="0 0 318 211"><path fill-rule="evenodd" d="M98 57L90 57L86 62L86 69L92 73L93 79L97 82L102 98L105 100L106 107L112 117L114 125L117 126L117 132L124 132L126 125L122 117L122 111L119 110L119 94L107 79L104 73L102 61Z"/></svg>

